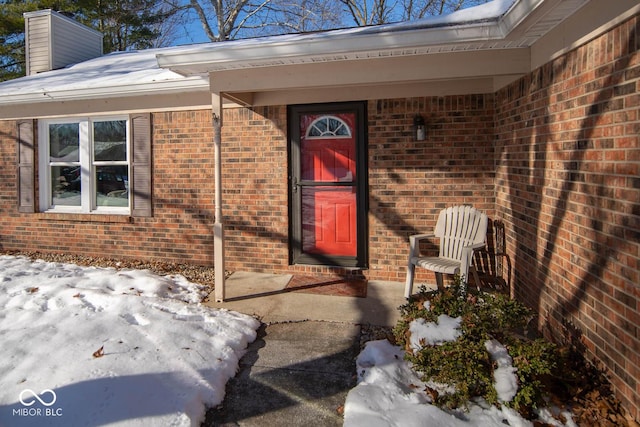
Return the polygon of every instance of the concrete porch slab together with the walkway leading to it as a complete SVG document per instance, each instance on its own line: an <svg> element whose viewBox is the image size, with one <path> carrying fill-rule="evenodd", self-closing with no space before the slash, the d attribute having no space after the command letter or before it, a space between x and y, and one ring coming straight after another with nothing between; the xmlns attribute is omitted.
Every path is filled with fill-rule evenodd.
<svg viewBox="0 0 640 427"><path fill-rule="evenodd" d="M227 301L207 303L254 315L263 326L204 427L342 425L345 398L356 384L360 325L394 326L403 285L369 282L367 297L358 298L291 292L290 279L234 273Z"/></svg>

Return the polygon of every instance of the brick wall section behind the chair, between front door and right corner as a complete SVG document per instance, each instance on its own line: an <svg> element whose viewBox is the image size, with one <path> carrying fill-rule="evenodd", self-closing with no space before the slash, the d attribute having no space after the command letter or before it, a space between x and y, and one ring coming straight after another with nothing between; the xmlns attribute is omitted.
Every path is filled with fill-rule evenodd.
<svg viewBox="0 0 640 427"><path fill-rule="evenodd" d="M404 281L408 236L430 233L440 210L472 204L492 215L493 96L371 101L369 247L371 277ZM427 139L414 141L416 114ZM435 283L416 269L416 284Z"/></svg>

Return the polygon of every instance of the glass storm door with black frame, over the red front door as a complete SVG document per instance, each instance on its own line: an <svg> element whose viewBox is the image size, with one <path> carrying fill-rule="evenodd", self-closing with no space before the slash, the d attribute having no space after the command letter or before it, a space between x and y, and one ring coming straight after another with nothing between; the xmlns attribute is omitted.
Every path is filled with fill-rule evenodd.
<svg viewBox="0 0 640 427"><path fill-rule="evenodd" d="M363 111L362 104L292 108L295 263L364 265Z"/></svg>

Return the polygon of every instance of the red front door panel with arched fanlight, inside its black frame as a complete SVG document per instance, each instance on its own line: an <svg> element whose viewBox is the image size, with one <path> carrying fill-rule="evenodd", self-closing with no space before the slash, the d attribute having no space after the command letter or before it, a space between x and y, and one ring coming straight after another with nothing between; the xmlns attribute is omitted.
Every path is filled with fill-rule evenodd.
<svg viewBox="0 0 640 427"><path fill-rule="evenodd" d="M356 256L355 114L300 117L302 251Z"/></svg>

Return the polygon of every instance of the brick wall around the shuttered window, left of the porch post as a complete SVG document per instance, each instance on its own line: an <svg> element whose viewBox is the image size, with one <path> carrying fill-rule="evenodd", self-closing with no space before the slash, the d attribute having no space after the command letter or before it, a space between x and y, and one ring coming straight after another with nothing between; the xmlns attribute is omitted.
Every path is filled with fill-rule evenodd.
<svg viewBox="0 0 640 427"><path fill-rule="evenodd" d="M0 249L211 264L211 113L156 113L152 120L153 218L19 214L15 123L0 122Z"/></svg>

